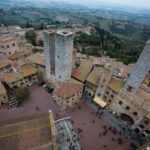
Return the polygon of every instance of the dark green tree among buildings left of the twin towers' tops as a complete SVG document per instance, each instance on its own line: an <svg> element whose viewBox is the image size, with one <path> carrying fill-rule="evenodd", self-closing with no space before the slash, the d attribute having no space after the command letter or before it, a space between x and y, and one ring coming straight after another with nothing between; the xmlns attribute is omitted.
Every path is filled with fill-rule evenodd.
<svg viewBox="0 0 150 150"><path fill-rule="evenodd" d="M34 46L36 45L36 32L35 31L26 32L25 38L28 42L30 42Z"/></svg>

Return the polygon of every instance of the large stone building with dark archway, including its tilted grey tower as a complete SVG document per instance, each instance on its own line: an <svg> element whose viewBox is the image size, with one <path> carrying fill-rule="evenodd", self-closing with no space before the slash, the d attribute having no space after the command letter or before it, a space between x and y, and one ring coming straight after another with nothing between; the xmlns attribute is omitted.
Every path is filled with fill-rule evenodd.
<svg viewBox="0 0 150 150"><path fill-rule="evenodd" d="M150 41L146 43L124 87L109 106L126 124L143 137L150 137L149 54ZM107 90L105 95L107 95Z"/></svg>

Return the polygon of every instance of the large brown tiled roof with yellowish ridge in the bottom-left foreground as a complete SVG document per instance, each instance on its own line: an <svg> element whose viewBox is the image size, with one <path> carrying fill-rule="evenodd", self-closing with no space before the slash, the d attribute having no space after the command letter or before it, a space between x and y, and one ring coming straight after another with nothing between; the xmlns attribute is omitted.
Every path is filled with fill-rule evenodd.
<svg viewBox="0 0 150 150"><path fill-rule="evenodd" d="M55 150L48 115L15 118L0 125L0 145L3 150ZM7 143L7 144L6 144ZM9 144L8 144L9 143Z"/></svg>

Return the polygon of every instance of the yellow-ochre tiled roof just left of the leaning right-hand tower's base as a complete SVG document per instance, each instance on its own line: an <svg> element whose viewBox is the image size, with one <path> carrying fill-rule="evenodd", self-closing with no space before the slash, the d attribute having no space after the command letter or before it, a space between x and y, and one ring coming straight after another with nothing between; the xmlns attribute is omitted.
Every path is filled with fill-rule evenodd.
<svg viewBox="0 0 150 150"><path fill-rule="evenodd" d="M124 82L122 80L116 79L116 78L112 78L108 87L110 87L112 90L114 90L115 92L119 92L120 89L124 86Z"/></svg>

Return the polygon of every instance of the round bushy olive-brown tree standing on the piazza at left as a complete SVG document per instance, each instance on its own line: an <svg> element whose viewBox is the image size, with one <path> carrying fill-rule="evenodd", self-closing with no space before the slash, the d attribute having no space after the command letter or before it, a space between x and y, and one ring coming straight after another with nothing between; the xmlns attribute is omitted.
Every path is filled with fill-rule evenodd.
<svg viewBox="0 0 150 150"><path fill-rule="evenodd" d="M30 95L30 91L27 87L20 87L15 91L14 97L21 103L26 100Z"/></svg>

